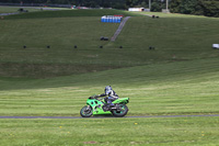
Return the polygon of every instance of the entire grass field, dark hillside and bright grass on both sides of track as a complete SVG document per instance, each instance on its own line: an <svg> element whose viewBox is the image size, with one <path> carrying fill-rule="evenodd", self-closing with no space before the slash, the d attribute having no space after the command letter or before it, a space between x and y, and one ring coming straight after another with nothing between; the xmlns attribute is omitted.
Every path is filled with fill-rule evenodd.
<svg viewBox="0 0 219 146"><path fill-rule="evenodd" d="M0 20L0 115L80 116L87 99L107 85L130 98L127 116L219 114L219 54L211 48L219 37L218 19L59 12ZM132 18L116 42L101 42L118 24L103 24L100 16L116 13ZM217 146L218 123L217 116L1 119L0 145Z"/></svg>

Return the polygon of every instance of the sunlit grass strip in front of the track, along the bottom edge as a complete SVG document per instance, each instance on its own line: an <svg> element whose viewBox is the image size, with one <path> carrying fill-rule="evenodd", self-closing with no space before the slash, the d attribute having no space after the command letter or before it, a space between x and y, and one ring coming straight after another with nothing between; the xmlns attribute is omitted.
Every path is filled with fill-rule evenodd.
<svg viewBox="0 0 219 146"><path fill-rule="evenodd" d="M219 143L218 117L0 120L2 146L159 145Z"/></svg>

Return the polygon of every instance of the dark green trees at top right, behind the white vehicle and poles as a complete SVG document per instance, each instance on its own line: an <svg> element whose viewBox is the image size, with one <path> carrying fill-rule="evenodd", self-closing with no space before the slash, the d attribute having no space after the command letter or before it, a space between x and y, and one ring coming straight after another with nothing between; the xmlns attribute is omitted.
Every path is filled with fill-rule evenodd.
<svg viewBox="0 0 219 146"><path fill-rule="evenodd" d="M128 7L149 8L149 0L126 0ZM196 14L219 18L219 0L169 0L172 13ZM151 11L165 9L166 0L151 0Z"/></svg>

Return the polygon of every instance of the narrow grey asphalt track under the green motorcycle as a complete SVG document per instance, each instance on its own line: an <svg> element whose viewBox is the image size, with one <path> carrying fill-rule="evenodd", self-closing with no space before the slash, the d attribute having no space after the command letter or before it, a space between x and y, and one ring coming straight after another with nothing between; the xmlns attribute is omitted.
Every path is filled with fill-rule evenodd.
<svg viewBox="0 0 219 146"><path fill-rule="evenodd" d="M168 117L208 117L208 116L219 116L219 114L207 114L207 115L151 115L151 116L124 116L123 119L168 119ZM81 116L0 116L0 119L120 119L113 115L100 115L91 117Z"/></svg>

